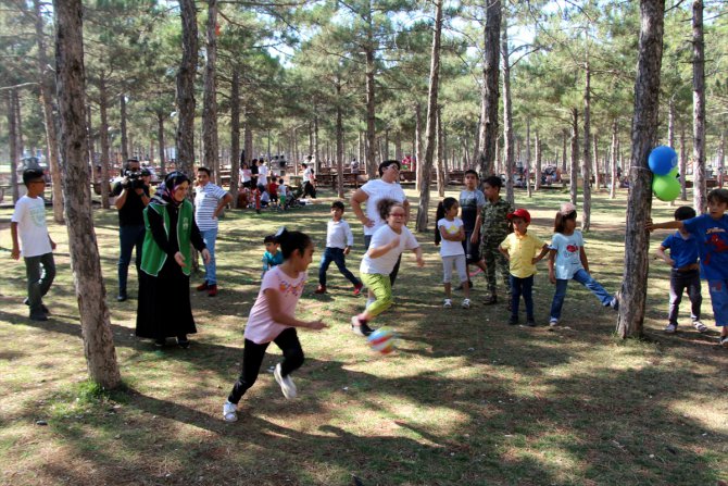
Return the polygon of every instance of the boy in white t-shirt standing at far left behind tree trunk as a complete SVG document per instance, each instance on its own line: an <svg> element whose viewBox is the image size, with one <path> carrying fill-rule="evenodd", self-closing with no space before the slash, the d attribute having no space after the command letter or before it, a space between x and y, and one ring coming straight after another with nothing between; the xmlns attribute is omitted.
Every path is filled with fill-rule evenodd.
<svg viewBox="0 0 728 486"><path fill-rule="evenodd" d="M48 321L48 308L43 306L43 296L55 278L55 262L53 250L55 242L51 239L46 226L46 203L42 197L46 189L43 172L38 169L27 169L23 172L23 184L27 194L17 200L15 211L10 223L10 233L13 238L11 257L14 260L25 260L25 273L28 279L28 297L25 303L30 308L32 321ZM42 269L41 269L42 267Z"/></svg>

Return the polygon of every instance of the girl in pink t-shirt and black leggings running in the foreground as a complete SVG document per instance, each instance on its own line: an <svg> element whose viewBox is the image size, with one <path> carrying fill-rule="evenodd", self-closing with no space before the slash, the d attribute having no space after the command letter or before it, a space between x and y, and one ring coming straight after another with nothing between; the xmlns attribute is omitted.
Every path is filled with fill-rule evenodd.
<svg viewBox="0 0 728 486"><path fill-rule="evenodd" d="M284 353L284 359L276 364L273 376L286 398L296 398L296 384L290 374L303 364L303 349L296 328L326 327L321 320L300 321L294 317L296 304L303 292L306 269L313 256L311 238L304 233L288 232L285 228L276 238L280 242L284 263L265 274L255 303L250 310L244 333L242 371L223 406L223 419L226 422L238 420L238 402L258 379L265 350L271 341Z"/></svg>

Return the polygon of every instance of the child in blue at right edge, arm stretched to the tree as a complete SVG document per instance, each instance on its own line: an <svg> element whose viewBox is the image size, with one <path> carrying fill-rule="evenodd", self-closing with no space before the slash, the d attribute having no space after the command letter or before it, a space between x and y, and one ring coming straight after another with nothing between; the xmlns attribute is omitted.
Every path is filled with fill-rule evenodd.
<svg viewBox="0 0 728 486"><path fill-rule="evenodd" d="M686 221L654 224L661 228L685 228L698 240L700 274L707 281L715 325L720 327L720 346L728 348L728 189L713 189L707 195L707 213Z"/></svg>

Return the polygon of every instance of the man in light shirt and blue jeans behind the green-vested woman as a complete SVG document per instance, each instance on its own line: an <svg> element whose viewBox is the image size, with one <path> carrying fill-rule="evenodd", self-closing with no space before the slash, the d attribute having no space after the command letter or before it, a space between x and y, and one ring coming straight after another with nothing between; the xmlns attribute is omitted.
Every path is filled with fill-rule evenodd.
<svg viewBox="0 0 728 486"><path fill-rule="evenodd" d="M198 291L208 290L208 297L215 297L217 295L217 270L215 265L217 216L227 204L233 202L233 196L210 182L210 169L208 167L198 167L194 192L194 221L210 252L210 261L204 265L204 282L198 285L197 289Z"/></svg>

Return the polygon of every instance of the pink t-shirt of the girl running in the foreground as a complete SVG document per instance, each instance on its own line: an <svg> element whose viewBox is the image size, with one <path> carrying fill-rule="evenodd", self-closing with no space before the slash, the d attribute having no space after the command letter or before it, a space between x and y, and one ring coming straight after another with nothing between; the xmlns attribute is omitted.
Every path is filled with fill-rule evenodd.
<svg viewBox="0 0 728 486"><path fill-rule="evenodd" d="M263 345L265 342L271 342L285 329L291 327L278 324L271 317L266 290L278 292L280 312L288 315L294 315L296 304L303 292L303 284L305 284L305 272L300 272L298 277L291 278L280 270L280 266L274 266L265 272L263 283L261 284L261 290L258 292L255 303L250 310L250 316L248 317L248 324L246 325L246 339L250 339L256 345Z"/></svg>

